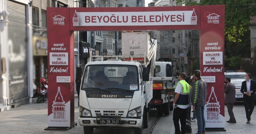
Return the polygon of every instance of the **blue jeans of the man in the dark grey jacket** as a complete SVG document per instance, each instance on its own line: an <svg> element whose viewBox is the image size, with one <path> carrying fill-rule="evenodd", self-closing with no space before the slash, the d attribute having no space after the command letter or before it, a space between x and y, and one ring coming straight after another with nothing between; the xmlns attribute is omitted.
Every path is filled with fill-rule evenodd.
<svg viewBox="0 0 256 134"><path fill-rule="evenodd" d="M196 111L194 111L194 113L197 120L198 134L205 132L204 105L205 104L195 106Z"/></svg>

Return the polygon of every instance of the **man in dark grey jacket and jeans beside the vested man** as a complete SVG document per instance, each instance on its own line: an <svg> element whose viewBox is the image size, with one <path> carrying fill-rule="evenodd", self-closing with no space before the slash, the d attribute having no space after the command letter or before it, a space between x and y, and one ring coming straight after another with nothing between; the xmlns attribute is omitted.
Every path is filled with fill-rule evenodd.
<svg viewBox="0 0 256 134"><path fill-rule="evenodd" d="M207 83L201 79L201 71L195 70L196 83L192 87L192 106L196 115L198 132L205 134L204 106L206 104Z"/></svg>

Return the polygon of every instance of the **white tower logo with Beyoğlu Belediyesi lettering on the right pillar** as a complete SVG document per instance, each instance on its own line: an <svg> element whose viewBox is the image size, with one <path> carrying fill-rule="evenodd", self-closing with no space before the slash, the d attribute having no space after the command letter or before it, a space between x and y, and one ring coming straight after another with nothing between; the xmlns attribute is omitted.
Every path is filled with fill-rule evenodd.
<svg viewBox="0 0 256 134"><path fill-rule="evenodd" d="M220 120L220 102L214 93L214 87L212 87L209 100L206 102L206 114L206 120Z"/></svg>

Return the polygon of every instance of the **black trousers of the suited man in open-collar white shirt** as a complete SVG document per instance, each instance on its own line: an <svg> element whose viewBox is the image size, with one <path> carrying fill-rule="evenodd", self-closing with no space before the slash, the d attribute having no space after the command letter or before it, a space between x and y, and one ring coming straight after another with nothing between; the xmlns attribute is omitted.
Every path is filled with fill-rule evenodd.
<svg viewBox="0 0 256 134"><path fill-rule="evenodd" d="M252 97L246 96L244 98L244 108L247 120L251 120L252 111L254 109L254 100Z"/></svg>

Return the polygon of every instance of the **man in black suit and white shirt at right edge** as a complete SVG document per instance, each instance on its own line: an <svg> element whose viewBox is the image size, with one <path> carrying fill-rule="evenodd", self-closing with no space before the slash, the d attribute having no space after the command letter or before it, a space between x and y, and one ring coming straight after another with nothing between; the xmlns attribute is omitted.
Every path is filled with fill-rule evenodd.
<svg viewBox="0 0 256 134"><path fill-rule="evenodd" d="M247 124L250 123L251 121L251 115L252 111L254 109L254 99L255 99L255 92L256 92L256 82L251 80L251 74L246 73L244 75L244 79L246 81L242 82L241 86L241 93L244 94L244 108L245 108L245 113L246 113L246 118L247 118Z"/></svg>

